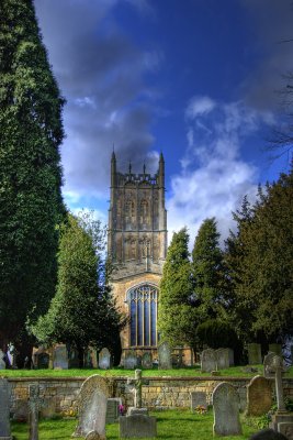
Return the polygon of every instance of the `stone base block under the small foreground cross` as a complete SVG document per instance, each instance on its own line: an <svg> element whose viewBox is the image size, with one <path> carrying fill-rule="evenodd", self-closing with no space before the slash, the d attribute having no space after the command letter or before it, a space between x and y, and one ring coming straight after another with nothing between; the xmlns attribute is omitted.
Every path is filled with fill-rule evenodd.
<svg viewBox="0 0 293 440"><path fill-rule="evenodd" d="M120 438L155 438L157 437L156 417L133 415L119 418Z"/></svg>

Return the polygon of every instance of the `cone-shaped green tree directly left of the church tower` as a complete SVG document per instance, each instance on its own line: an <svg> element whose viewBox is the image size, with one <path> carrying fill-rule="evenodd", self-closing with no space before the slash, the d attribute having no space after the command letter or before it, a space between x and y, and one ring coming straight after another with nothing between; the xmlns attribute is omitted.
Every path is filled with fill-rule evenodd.
<svg viewBox="0 0 293 440"><path fill-rule="evenodd" d="M58 252L58 283L48 312L32 327L42 343L64 342L83 352L114 348L122 327L108 283L102 258L104 233L88 215L68 216L61 227Z"/></svg>

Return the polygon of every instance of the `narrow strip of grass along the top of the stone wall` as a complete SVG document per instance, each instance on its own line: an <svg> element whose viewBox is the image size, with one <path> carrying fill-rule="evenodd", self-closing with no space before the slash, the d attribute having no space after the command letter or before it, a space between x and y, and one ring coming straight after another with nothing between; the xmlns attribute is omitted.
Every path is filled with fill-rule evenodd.
<svg viewBox="0 0 293 440"><path fill-rule="evenodd" d="M257 372L246 373L244 372L244 366L232 366L227 370L221 371L222 376L229 377L253 377L257 374L263 374L262 365L253 365L257 369ZM211 376L210 373L201 373L200 366L193 367L183 367L183 369L173 369L173 370L143 370L143 375L145 377L154 377L154 376L171 376L171 377L194 377L201 376L206 377ZM92 374L101 374L103 376L133 376L133 370L124 370L124 369L111 369L111 370L86 370L86 369L70 369L70 370L2 370L1 376L4 377L88 377ZM293 377L293 366L289 369L289 371L284 375L285 377Z"/></svg>

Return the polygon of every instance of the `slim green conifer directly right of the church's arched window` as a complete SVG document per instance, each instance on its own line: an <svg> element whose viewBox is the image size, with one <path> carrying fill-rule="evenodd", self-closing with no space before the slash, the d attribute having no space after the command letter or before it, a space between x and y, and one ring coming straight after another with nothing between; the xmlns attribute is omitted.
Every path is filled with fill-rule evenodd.
<svg viewBox="0 0 293 440"><path fill-rule="evenodd" d="M173 346L195 343L196 309L192 305L188 241L185 228L173 234L160 282L158 329L160 339Z"/></svg>

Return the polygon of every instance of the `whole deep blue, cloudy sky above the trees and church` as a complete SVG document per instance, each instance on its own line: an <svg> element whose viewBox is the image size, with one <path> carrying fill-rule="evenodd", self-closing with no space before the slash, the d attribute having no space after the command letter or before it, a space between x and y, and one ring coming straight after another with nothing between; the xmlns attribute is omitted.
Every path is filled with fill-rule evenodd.
<svg viewBox="0 0 293 440"><path fill-rule="evenodd" d="M243 197L289 169L272 161L293 72L292 0L35 0L67 103L63 194L108 221L110 160L166 161L169 240L215 217L222 240ZM291 41L290 41L291 40Z"/></svg>

